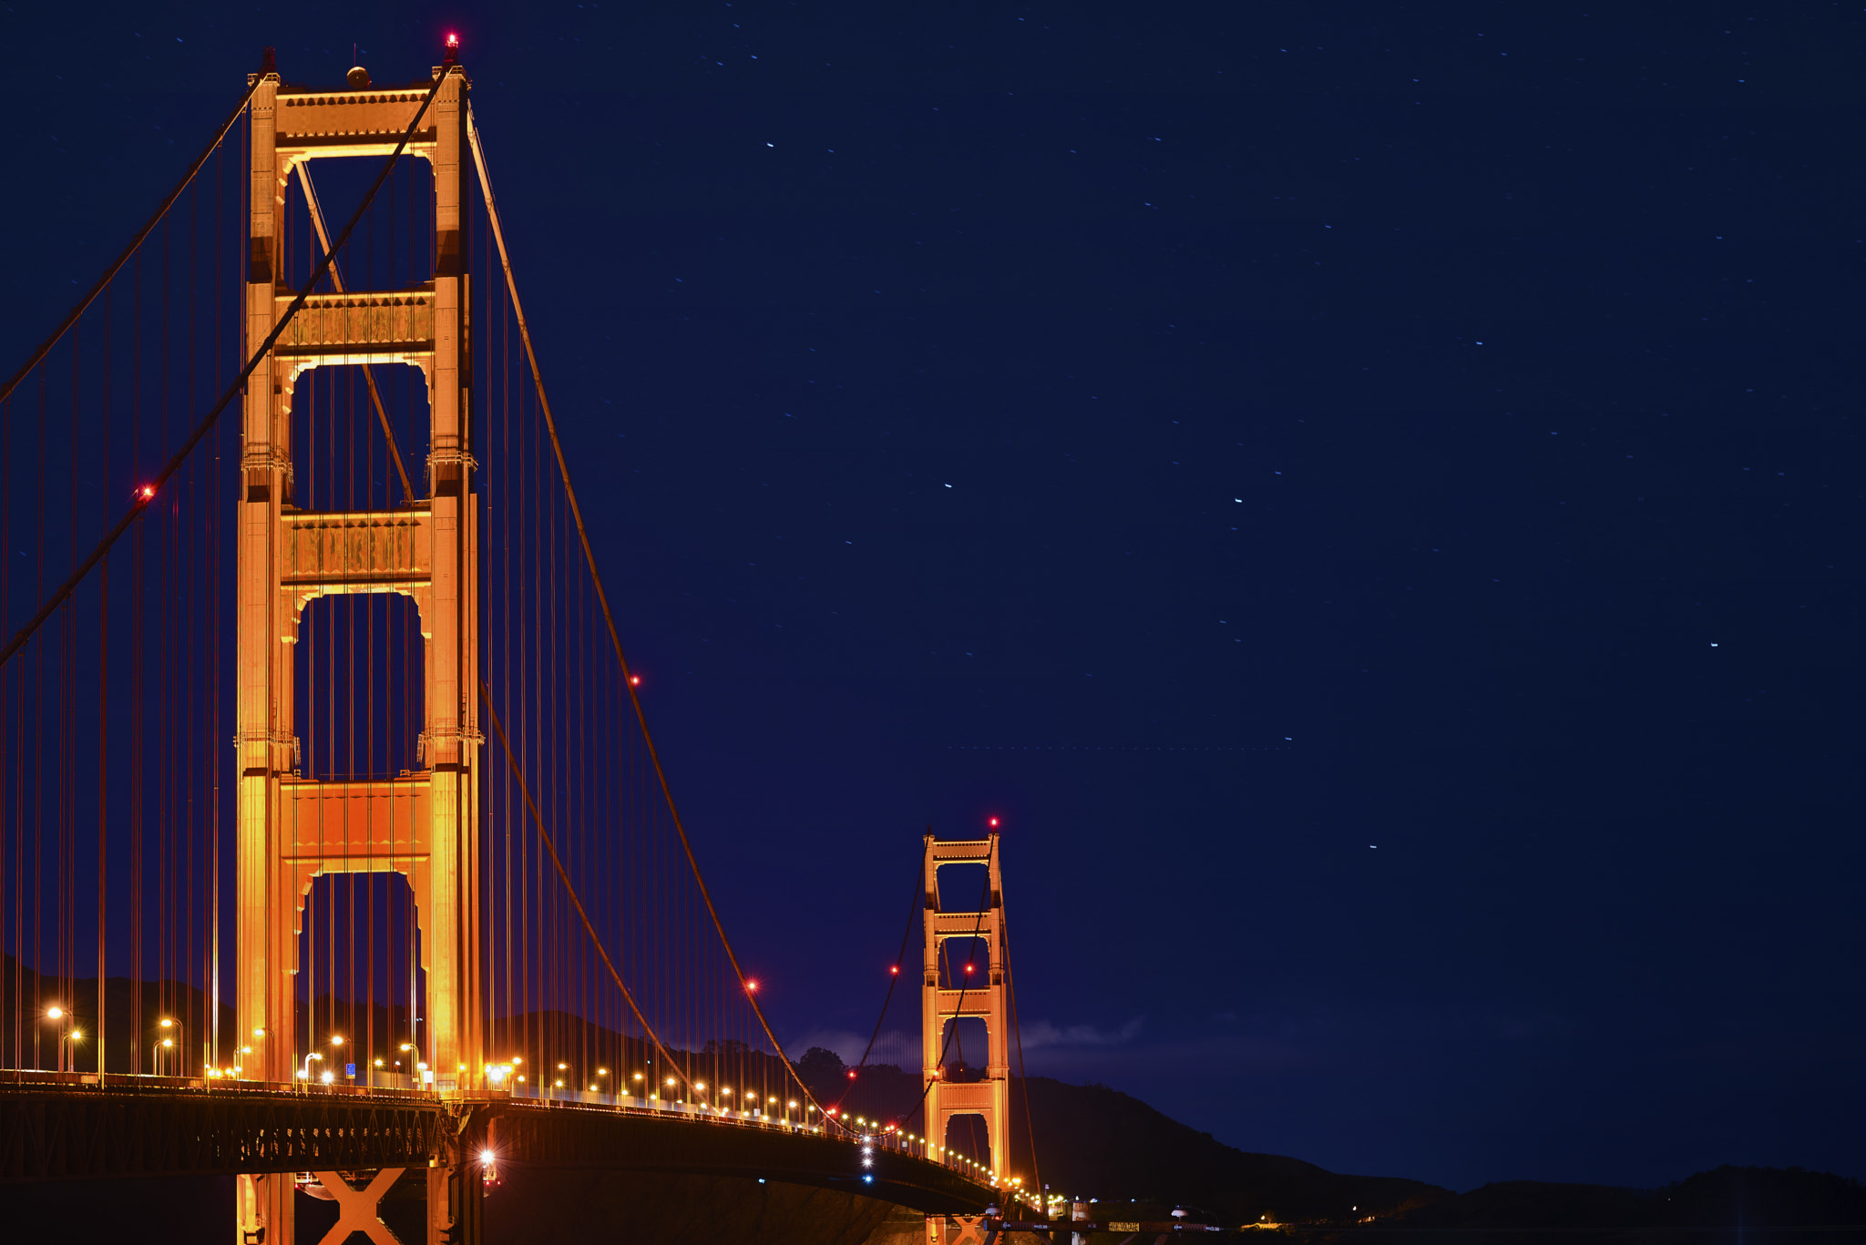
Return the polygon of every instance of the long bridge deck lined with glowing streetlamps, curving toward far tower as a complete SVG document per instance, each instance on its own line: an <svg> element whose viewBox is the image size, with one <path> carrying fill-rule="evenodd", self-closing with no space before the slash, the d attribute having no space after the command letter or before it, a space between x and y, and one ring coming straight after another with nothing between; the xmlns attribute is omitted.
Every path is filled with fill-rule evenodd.
<svg viewBox="0 0 1866 1245"><path fill-rule="evenodd" d="M444 1142L502 1163L761 1178L976 1213L996 1193L886 1146L674 1109L293 1088L112 1073L0 1073L0 1183L427 1167ZM864 1157L871 1167L864 1167Z"/></svg>

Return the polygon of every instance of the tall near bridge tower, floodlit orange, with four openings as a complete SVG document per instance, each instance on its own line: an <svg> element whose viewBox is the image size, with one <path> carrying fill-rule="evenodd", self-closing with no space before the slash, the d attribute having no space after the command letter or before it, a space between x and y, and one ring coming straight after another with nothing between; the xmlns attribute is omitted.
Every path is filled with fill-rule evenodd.
<svg viewBox="0 0 1866 1245"><path fill-rule="evenodd" d="M483 1071L478 913L478 530L472 506L466 95L463 69L433 69L439 91L405 157L433 170L433 280L399 291L313 293L259 360L244 396L237 622L239 982L246 1077L291 1081L325 1034L299 1045L299 933L319 874L396 872L409 879L427 971L418 1045L429 1088L478 1088ZM427 86L308 90L256 75L250 121L246 357L293 299L285 284L285 187L300 161L386 159ZM308 511L293 498L291 399L308 370L405 364L427 381L427 491L390 511ZM425 706L420 769L325 782L297 765L293 685L304 607L319 595L394 592L420 616ZM369 1053L358 1053L368 1056ZM429 1170L429 1241L461 1239L466 1167ZM239 1239L289 1245L293 1176L243 1176ZM439 1198L439 1206L437 1206ZM478 1213L478 1180L470 1210Z"/></svg>

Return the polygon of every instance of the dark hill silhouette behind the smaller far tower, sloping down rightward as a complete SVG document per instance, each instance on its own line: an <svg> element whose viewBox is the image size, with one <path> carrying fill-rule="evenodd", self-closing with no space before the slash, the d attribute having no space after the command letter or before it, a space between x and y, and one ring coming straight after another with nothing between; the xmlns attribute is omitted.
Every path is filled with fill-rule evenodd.
<svg viewBox="0 0 1866 1245"><path fill-rule="evenodd" d="M849 1079L842 1058L821 1047L797 1070L825 1105L907 1131L922 1127L918 1071L881 1064ZM948 1075L978 1077L963 1066ZM982 1129L961 1122L948 1144L985 1157ZM1457 1245L1726 1245L1739 1236L1748 1245L1788 1245L1812 1239L1810 1228L1845 1226L1866 1238L1866 1185L1832 1172L1719 1167L1661 1189L1510 1180L1459 1195L1418 1180L1349 1176L1237 1150L1120 1090L1051 1077L1013 1079L1011 1170L1039 1170L1051 1193L1099 1198L1097 1219L1159 1219L1183 1206L1204 1223L1284 1224L1263 1236L1306 1241L1401 1230L1407 1241Z"/></svg>

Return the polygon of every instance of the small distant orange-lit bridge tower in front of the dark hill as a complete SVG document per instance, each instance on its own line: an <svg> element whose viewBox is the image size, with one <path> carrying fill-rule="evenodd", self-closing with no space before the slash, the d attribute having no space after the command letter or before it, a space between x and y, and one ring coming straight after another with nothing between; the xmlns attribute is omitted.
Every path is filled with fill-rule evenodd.
<svg viewBox="0 0 1866 1245"><path fill-rule="evenodd" d="M989 874L985 911L942 909L939 872L948 864L983 864ZM1004 986L1004 885L1000 881L998 834L980 840L939 840L926 836L926 950L922 963L922 1079L926 1084L927 1137L946 1144L946 1126L954 1116L976 1114L985 1120L991 1140L991 1174L1004 1176L1011 1165L1011 1010ZM955 984L940 980L940 948L952 939L985 943L991 963L974 965L970 974L957 965ZM950 1081L942 1068L946 1025L959 1019L985 1021L985 1079Z"/></svg>

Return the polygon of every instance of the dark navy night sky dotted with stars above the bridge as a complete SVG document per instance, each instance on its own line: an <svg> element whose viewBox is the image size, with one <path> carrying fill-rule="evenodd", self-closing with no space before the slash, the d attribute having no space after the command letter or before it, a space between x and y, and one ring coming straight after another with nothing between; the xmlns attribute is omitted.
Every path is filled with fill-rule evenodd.
<svg viewBox="0 0 1866 1245"><path fill-rule="evenodd" d="M448 28L787 1043L1000 816L1034 1073L1866 1178L1857 6L9 0L0 371L263 45Z"/></svg>

